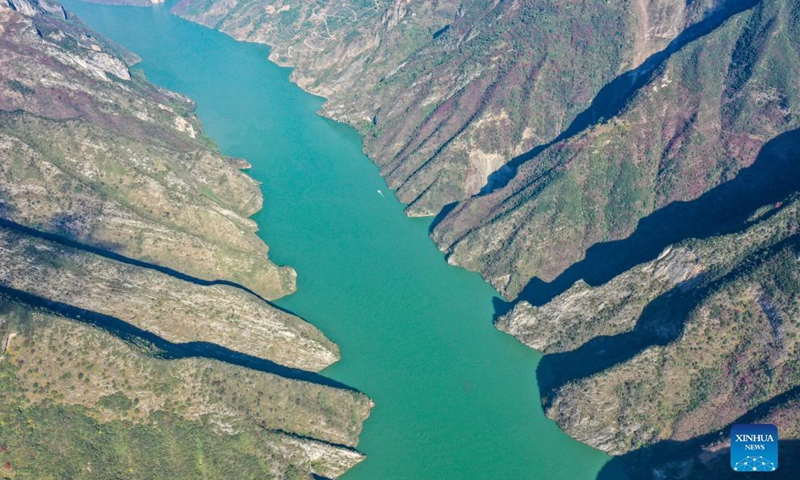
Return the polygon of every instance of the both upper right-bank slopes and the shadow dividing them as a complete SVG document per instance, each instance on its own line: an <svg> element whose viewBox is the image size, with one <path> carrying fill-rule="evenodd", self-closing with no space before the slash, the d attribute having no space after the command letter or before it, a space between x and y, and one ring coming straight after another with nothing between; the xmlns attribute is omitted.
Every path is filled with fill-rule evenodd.
<svg viewBox="0 0 800 480"><path fill-rule="evenodd" d="M173 11L272 45L328 99L324 114L364 135L409 214L441 213L433 238L449 260L510 298L797 126L796 47L777 34L795 13L772 0Z"/></svg>

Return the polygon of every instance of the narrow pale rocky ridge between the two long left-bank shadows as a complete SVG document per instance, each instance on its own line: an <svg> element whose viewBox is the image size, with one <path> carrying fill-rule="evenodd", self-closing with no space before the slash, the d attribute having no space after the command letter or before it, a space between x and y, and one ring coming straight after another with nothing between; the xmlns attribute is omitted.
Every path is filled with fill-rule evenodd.
<svg viewBox="0 0 800 480"><path fill-rule="evenodd" d="M2 227L0 284L118 318L170 342L206 342L311 371L339 358L316 328L238 288L198 285Z"/></svg>

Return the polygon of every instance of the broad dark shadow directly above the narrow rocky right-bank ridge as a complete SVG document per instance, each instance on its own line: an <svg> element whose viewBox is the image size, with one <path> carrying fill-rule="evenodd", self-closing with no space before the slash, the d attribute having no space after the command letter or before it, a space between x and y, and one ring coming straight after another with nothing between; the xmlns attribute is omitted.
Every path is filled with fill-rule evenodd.
<svg viewBox="0 0 800 480"><path fill-rule="evenodd" d="M628 238L592 246L583 260L552 282L532 279L517 300L541 306L579 279L592 286L602 285L681 240L745 229L751 225L747 218L755 210L781 202L797 190L800 190L800 129L767 142L755 162L733 180L695 200L674 202L651 213L639 221ZM498 313L508 307L501 306Z"/></svg>

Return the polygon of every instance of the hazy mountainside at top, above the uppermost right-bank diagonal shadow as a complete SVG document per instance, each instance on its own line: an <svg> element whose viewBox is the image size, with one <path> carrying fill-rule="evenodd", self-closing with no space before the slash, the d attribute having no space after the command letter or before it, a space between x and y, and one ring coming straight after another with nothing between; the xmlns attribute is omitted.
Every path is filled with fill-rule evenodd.
<svg viewBox="0 0 800 480"><path fill-rule="evenodd" d="M326 115L365 135L409 214L436 215L718 3L182 0L173 11L272 45L328 99Z"/></svg>

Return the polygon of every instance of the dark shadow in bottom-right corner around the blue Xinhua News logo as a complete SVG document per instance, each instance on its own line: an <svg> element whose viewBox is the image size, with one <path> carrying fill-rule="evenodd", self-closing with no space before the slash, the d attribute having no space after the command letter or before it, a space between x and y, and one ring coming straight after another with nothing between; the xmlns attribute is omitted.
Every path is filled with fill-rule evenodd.
<svg viewBox="0 0 800 480"><path fill-rule="evenodd" d="M725 440L730 436L730 429L735 424L755 423L763 420L769 411L784 402L800 397L800 387L795 387L785 393L760 404L746 414L720 430L702 435L691 440L668 440L656 443L625 455L615 457L608 462L597 480L620 480L619 473L624 471L630 480L661 480L677 478L688 462L692 469L688 476L681 477L685 480L796 480L800 478L800 439L780 440L778 447L778 470L769 474L734 472L730 468L728 447L717 452L714 457L702 462L698 457L703 453L703 447ZM780 437L780 432L778 432ZM657 476L656 472L662 476Z"/></svg>

